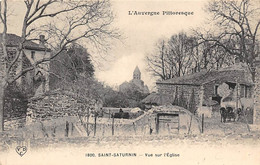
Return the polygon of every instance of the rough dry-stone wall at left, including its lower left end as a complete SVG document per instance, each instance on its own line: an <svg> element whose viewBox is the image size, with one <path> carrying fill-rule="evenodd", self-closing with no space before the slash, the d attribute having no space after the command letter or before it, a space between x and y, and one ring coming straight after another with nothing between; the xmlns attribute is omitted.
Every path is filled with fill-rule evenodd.
<svg viewBox="0 0 260 165"><path fill-rule="evenodd" d="M64 92L41 95L28 100L27 110L19 115L5 116L5 130L14 130L33 122L48 121L65 116L84 116L88 111L100 109L102 105L93 99L75 98Z"/></svg>

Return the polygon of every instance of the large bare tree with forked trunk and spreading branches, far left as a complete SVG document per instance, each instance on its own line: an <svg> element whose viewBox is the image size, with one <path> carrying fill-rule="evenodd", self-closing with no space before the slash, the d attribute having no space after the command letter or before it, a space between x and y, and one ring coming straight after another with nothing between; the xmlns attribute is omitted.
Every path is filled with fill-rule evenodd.
<svg viewBox="0 0 260 165"><path fill-rule="evenodd" d="M8 61L6 36L8 32L7 0L0 2L0 20L3 25L1 39L0 72L0 131L4 130L3 105L4 90L28 71L50 61L60 54L69 44L78 40L93 44L100 49L108 46L109 39L119 37L111 28L113 13L108 0L70 1L70 0L24 0L26 11L21 29L21 40L16 54ZM11 3L11 2L10 2ZM21 72L11 75L14 66L28 41L36 41L39 34L47 36L47 42L53 48L50 57L44 57Z"/></svg>

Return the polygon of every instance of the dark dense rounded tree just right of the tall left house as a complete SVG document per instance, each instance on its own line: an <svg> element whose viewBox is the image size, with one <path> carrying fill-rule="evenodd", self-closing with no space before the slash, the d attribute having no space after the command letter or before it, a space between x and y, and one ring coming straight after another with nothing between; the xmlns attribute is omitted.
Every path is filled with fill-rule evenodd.
<svg viewBox="0 0 260 165"><path fill-rule="evenodd" d="M80 77L93 77L94 66L87 49L73 44L51 60L49 73L50 87L54 89L67 81L77 81Z"/></svg>

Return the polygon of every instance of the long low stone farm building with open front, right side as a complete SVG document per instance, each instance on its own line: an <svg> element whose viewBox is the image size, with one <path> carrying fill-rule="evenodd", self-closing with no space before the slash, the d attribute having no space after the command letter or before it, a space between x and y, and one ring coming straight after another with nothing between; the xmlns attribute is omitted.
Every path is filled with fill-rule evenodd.
<svg viewBox="0 0 260 165"><path fill-rule="evenodd" d="M246 64L236 62L234 65L220 70L201 71L182 77L157 82L159 93L183 99L188 103L192 92L195 94L196 106L212 106L218 103L224 106L233 102L232 107L239 108L240 100L253 100L254 82ZM253 109L253 102L247 105ZM244 107L246 108L246 107Z"/></svg>

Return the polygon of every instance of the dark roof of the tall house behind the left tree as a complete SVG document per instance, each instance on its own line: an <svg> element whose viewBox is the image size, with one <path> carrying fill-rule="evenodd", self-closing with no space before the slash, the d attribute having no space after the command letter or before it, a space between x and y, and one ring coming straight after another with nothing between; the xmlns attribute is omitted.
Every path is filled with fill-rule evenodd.
<svg viewBox="0 0 260 165"><path fill-rule="evenodd" d="M3 34L0 33L0 42L2 42L2 35ZM17 47L20 44L21 40L22 38L20 36L16 34L8 33L6 35L6 46ZM30 50L50 51L50 49L46 49L45 47L40 46L40 44L37 44L32 41L25 41L23 46L25 49L30 49Z"/></svg>

